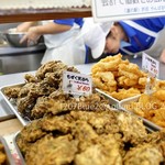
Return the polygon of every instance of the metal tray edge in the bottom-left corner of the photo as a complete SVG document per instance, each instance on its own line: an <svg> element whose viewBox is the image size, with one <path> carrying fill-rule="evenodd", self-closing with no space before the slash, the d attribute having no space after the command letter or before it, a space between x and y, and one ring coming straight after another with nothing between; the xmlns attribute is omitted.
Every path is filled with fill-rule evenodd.
<svg viewBox="0 0 165 165"><path fill-rule="evenodd" d="M0 136L0 143L4 146L4 154L7 155L7 165L15 165L15 162L11 155L11 152L7 145L7 142L2 136Z"/></svg>

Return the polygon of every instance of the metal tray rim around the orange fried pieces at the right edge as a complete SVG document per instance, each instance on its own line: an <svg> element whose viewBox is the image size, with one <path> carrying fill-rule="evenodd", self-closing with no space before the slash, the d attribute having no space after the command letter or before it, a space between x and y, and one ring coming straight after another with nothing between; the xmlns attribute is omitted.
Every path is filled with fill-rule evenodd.
<svg viewBox="0 0 165 165"><path fill-rule="evenodd" d="M127 112L129 112L129 113L132 113L132 114L139 117L140 119L142 119L142 120L143 120L143 123L144 123L144 125L146 125L146 128L148 128L148 129L151 129L151 130L153 130L153 131L161 131L163 128L156 125L155 123L148 121L147 119L145 119L145 118L143 118L143 117L140 117L140 116L135 114L134 112L132 112L132 111L130 111L130 110L127 110L127 109L124 108L124 106L128 105L128 103L130 103L131 101L138 101L139 98L140 98L140 96L141 96L141 95L134 96L134 97L132 97L132 98L128 98L128 99L124 99L124 100L120 101L119 108L120 108L121 110L123 110L123 111L127 111Z"/></svg>

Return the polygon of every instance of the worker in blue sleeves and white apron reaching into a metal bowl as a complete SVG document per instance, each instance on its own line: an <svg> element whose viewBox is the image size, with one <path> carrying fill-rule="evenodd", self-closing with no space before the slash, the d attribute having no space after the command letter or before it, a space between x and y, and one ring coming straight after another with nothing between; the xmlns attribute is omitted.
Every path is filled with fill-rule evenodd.
<svg viewBox="0 0 165 165"><path fill-rule="evenodd" d="M81 18L24 22L16 28L18 32L26 32L21 42L36 42L42 35L46 52L41 64L48 61L62 61L67 65L85 64L86 46L84 38L78 37L84 24Z"/></svg>

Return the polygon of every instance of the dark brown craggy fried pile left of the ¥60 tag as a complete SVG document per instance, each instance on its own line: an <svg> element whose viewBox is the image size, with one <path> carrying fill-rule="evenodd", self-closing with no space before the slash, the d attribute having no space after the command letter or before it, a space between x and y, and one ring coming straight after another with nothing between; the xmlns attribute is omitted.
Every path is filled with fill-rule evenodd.
<svg viewBox="0 0 165 165"><path fill-rule="evenodd" d="M25 74L25 84L7 87L4 95L13 99L18 111L30 120L42 118L48 110L52 99L72 101L72 95L64 95L62 90L63 72L79 73L61 61L52 61L42 65L35 73Z"/></svg>

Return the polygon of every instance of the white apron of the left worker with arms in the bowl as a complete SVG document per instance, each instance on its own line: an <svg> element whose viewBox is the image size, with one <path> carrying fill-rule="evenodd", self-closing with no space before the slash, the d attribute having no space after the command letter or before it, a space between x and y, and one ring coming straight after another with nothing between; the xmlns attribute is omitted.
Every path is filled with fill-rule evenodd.
<svg viewBox="0 0 165 165"><path fill-rule="evenodd" d="M53 21L53 20L52 20ZM42 21L43 24L47 21ZM61 34L45 34L46 52L42 64L48 61L62 61L67 65L85 64L86 47L84 40L78 37L80 28L75 23L73 28Z"/></svg>

